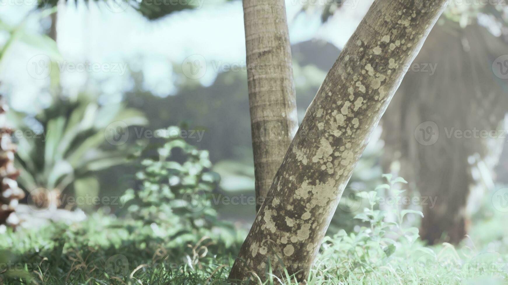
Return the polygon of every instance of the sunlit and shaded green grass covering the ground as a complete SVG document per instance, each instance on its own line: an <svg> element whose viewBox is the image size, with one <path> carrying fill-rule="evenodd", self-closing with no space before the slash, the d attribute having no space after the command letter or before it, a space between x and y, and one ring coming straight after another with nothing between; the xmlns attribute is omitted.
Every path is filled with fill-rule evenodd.
<svg viewBox="0 0 508 285"><path fill-rule="evenodd" d="M460 245L426 247L414 228L390 225L375 209L357 216L354 233L326 238L308 284L508 283L506 213L484 207ZM0 283L225 284L246 233L217 226L208 234L161 236L155 225L102 212L78 224L8 230ZM289 274L266 283L297 284Z"/></svg>

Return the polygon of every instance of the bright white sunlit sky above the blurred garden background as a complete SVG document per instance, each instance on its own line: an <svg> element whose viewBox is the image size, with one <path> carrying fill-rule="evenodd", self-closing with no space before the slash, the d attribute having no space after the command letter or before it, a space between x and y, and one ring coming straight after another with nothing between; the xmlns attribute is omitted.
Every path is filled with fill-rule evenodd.
<svg viewBox="0 0 508 285"><path fill-rule="evenodd" d="M12 6L11 3L10 0L0 2L0 20L4 23L14 27L25 21L27 34L42 34L48 30L49 17L42 17L40 12L28 14L33 5ZM320 39L342 48L371 2L351 1L324 25L320 20L321 11L299 13L302 7L295 3L287 1L292 44ZM142 89L165 97L175 95L178 85L188 80L181 74L181 65L189 56L200 55L208 64L245 64L240 1L203 2L200 9L175 12L155 21L145 19L132 8L115 11L104 2L62 4L57 9L57 46L61 58L56 61L62 93L67 96L88 91L100 94L103 103L118 102L126 91L134 88L131 73L140 72L143 74ZM8 38L7 32L0 33L0 44ZM0 91L11 95L14 108L34 111L36 106L43 108L50 104L51 96L46 91L49 77L34 78L40 77L34 76L34 72L41 60L49 62L52 58L55 61L55 56L47 54L44 49L23 40L17 40L6 53L0 66ZM111 70L69 71L70 63L108 64ZM217 70L207 68L198 80L210 86L216 75Z"/></svg>

